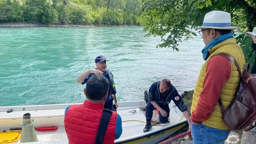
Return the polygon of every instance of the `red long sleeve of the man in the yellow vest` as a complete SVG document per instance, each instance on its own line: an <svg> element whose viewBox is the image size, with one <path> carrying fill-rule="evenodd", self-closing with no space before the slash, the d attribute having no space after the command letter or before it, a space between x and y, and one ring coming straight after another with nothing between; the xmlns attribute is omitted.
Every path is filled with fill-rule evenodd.
<svg viewBox="0 0 256 144"><path fill-rule="evenodd" d="M193 123L208 120L210 114L214 112L214 106L217 105L219 94L229 79L231 71L231 64L227 58L217 55L209 60L203 90L197 101L196 109L191 114Z"/></svg>

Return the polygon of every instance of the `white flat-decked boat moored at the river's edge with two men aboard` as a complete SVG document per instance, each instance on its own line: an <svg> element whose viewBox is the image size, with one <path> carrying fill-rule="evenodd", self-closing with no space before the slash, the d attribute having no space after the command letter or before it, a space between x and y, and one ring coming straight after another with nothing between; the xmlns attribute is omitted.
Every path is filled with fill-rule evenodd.
<svg viewBox="0 0 256 144"><path fill-rule="evenodd" d="M145 103L145 101L118 102L117 113L122 118L123 133L119 139L114 141L115 144L155 144L187 124L183 113L175 106L174 102L170 102L169 122L154 125L149 132L143 133L146 118L139 105ZM23 114L30 113L35 120L34 127L36 129L42 127L57 129L36 131L39 142L26 144L68 144L64 129L64 112L69 105L75 104L2 106L0 107L0 132L10 128L14 129L11 131L17 132L15 128L20 128L19 124L23 121ZM20 134L20 131L17 133ZM15 139L15 142L19 143L18 137Z"/></svg>

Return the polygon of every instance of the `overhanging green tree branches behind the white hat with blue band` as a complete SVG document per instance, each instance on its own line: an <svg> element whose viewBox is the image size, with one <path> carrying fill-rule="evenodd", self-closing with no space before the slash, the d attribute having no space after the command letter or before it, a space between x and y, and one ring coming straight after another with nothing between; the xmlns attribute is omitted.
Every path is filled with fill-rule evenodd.
<svg viewBox="0 0 256 144"><path fill-rule="evenodd" d="M256 0L142 0L142 24L147 36L161 36L157 47L178 51L178 43L191 39L191 29L201 26L204 15L213 10L229 12L233 25L243 31L256 26ZM244 38L238 36L241 43Z"/></svg>

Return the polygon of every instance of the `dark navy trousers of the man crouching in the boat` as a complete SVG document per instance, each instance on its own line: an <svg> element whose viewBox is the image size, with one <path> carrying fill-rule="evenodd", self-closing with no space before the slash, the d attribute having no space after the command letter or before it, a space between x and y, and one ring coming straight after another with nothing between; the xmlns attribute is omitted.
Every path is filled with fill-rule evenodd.
<svg viewBox="0 0 256 144"><path fill-rule="evenodd" d="M159 120L162 123L166 123L168 122L168 117L170 115L170 109L169 109L169 105L168 104L158 104L163 110L165 110L167 112L167 116L163 117L161 112L159 112ZM153 110L154 110L154 106L148 101L147 102L147 106L146 106L146 118L151 119L153 117Z"/></svg>

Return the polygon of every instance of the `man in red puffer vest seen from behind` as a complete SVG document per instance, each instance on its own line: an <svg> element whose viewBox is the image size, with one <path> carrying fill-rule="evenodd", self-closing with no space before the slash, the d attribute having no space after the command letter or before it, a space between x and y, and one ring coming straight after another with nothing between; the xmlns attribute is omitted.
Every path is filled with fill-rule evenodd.
<svg viewBox="0 0 256 144"><path fill-rule="evenodd" d="M86 100L82 105L69 106L64 126L69 144L94 144L108 98L109 81L103 75L93 75L86 83ZM121 117L113 111L106 128L103 144L114 144L122 133Z"/></svg>

